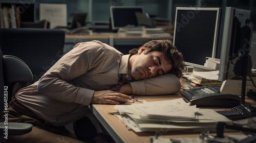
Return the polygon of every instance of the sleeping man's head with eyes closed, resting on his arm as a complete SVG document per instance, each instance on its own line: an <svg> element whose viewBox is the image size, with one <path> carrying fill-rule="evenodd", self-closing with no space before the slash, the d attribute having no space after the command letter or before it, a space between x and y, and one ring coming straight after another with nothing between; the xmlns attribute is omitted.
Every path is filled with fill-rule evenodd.
<svg viewBox="0 0 256 143"><path fill-rule="evenodd" d="M182 76L183 55L170 40L152 40L129 52L129 74L134 80L167 73Z"/></svg>

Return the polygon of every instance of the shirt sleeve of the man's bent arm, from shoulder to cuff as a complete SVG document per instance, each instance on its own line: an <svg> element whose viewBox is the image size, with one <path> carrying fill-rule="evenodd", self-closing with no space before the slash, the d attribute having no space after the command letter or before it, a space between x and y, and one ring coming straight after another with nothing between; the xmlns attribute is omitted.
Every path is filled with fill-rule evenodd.
<svg viewBox="0 0 256 143"><path fill-rule="evenodd" d="M89 105L94 90L75 86L72 80L86 74L104 60L105 49L95 42L78 43L39 80L37 90L51 99Z"/></svg>

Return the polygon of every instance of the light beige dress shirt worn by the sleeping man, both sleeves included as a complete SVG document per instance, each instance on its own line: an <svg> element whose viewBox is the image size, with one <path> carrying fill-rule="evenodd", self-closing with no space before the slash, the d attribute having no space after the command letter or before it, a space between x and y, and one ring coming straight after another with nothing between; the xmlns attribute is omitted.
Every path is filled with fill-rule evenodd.
<svg viewBox="0 0 256 143"><path fill-rule="evenodd" d="M91 112L94 91L116 85L127 74L130 55L100 41L82 42L62 56L39 81L16 94L17 100L54 126L64 126ZM133 81L133 94L170 94L180 90L172 75Z"/></svg>

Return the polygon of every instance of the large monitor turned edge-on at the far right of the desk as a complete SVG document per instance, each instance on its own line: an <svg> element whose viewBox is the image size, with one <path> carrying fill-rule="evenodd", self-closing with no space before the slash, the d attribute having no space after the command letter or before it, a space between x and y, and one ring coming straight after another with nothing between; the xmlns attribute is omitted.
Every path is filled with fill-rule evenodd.
<svg viewBox="0 0 256 143"><path fill-rule="evenodd" d="M239 55L249 53L246 45L251 44L252 32L248 35L243 33L243 27L248 27L252 31L250 23L250 11L226 7L222 46L219 81L224 81L234 76L234 64L240 59ZM247 36L247 37L248 37Z"/></svg>

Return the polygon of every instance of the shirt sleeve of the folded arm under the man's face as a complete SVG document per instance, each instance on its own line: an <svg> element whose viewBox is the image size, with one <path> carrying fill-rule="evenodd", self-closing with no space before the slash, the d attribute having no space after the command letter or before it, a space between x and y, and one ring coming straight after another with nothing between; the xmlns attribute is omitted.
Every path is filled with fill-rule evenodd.
<svg viewBox="0 0 256 143"><path fill-rule="evenodd" d="M130 82L135 95L163 95L177 93L181 89L178 77L166 74L145 80Z"/></svg>

